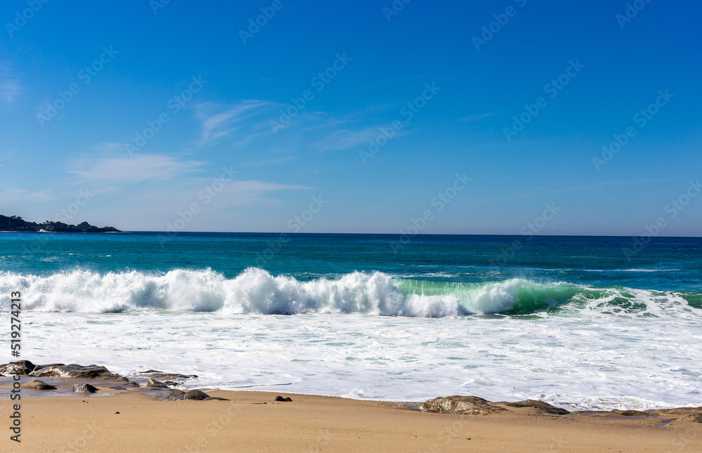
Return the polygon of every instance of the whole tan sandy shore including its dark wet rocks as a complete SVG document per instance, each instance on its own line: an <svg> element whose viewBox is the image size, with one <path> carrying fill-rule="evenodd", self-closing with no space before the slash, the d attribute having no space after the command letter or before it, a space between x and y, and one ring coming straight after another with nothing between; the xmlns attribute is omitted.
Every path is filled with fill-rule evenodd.
<svg viewBox="0 0 702 453"><path fill-rule="evenodd" d="M7 435L0 445L13 451L689 452L702 437L702 407L569 412L472 396L413 403L190 390L192 375L29 361L0 365L3 416L13 411L12 371L22 372L22 441ZM74 393L81 384L95 393Z"/></svg>

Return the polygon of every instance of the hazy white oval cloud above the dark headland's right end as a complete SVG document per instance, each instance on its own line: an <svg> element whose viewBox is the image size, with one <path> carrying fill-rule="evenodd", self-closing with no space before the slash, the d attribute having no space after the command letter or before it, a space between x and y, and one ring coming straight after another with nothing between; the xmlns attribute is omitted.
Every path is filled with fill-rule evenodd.
<svg viewBox="0 0 702 453"><path fill-rule="evenodd" d="M85 181L138 183L145 180L169 180L183 173L197 171L204 162L179 161L166 155L102 157L83 162L84 169L70 173Z"/></svg>

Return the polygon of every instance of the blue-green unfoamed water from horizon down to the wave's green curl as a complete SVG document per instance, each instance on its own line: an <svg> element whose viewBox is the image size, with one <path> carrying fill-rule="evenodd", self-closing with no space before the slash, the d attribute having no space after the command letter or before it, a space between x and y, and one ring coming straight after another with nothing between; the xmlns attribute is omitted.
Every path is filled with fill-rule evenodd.
<svg viewBox="0 0 702 453"><path fill-rule="evenodd" d="M702 239L656 238L632 256L631 238L528 238L423 236L401 243L394 235L0 233L0 270L5 277L212 270L231 280L258 268L299 282L382 273L402 294L452 294L464 302L486 284L517 279L510 289L516 303L507 310L515 314L612 294L612 304L634 309L626 289L674 291L702 308ZM463 306L457 314L496 311Z"/></svg>

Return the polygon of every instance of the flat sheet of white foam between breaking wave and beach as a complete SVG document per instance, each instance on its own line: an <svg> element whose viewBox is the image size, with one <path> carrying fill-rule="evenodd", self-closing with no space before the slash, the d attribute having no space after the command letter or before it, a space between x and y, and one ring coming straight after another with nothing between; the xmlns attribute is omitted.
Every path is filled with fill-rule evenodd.
<svg viewBox="0 0 702 453"><path fill-rule="evenodd" d="M702 405L699 319L23 314L22 358L197 374L190 387L575 409ZM674 328L673 328L674 327ZM60 345L58 347L57 345Z"/></svg>

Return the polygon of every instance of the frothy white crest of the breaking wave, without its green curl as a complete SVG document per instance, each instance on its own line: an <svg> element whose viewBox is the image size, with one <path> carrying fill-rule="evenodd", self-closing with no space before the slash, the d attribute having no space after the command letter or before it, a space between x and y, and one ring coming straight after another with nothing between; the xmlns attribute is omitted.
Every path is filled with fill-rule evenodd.
<svg viewBox="0 0 702 453"><path fill-rule="evenodd" d="M442 317L503 313L519 305L519 291L545 287L513 279L458 285L439 294L424 294L423 287L408 293L384 273L355 272L336 280L300 282L258 268L249 268L234 279L226 279L213 270L171 270L159 275L137 271L101 275L75 270L41 277L0 273L0 291L21 289L27 295L26 310L77 313L159 309ZM543 303L549 303L546 299L548 294Z"/></svg>

